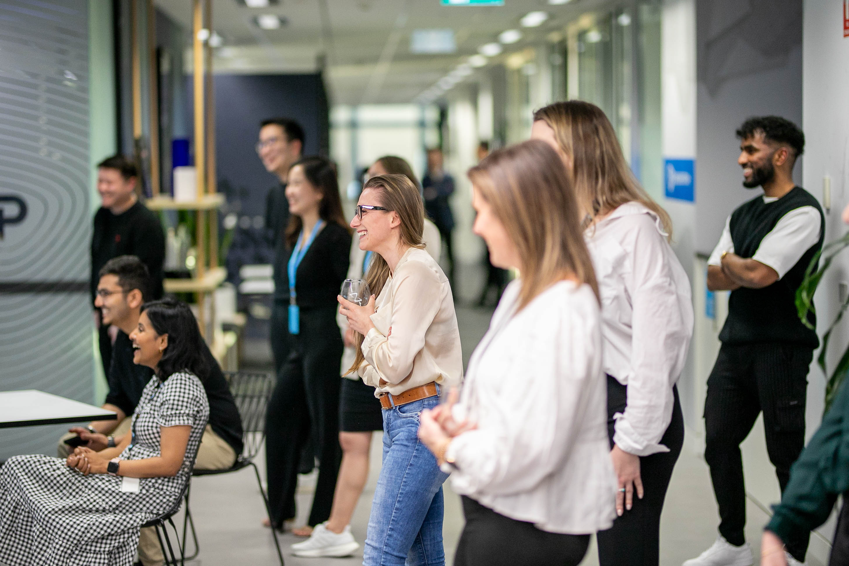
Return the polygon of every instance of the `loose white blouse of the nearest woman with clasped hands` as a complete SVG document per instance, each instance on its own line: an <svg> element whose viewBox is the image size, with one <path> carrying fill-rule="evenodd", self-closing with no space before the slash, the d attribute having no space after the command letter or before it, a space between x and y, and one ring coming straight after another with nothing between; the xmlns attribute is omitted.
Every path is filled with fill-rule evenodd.
<svg viewBox="0 0 849 566"><path fill-rule="evenodd" d="M469 361L457 408L477 429L448 445L453 489L541 530L608 529L616 477L598 301L563 281L515 313L520 285L508 285Z"/></svg>

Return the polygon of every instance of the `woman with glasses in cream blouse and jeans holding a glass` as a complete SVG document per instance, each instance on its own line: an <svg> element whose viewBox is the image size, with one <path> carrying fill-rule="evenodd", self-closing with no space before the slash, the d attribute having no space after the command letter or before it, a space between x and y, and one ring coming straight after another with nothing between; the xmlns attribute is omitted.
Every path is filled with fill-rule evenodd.
<svg viewBox="0 0 849 566"><path fill-rule="evenodd" d="M383 468L368 519L363 564L445 563L442 483L447 474L419 441L419 414L439 403L441 386L456 386L463 356L451 287L421 243L424 205L402 175L365 183L351 221L360 249L374 255L366 306L339 297L355 332L351 366L375 388L383 407Z"/></svg>

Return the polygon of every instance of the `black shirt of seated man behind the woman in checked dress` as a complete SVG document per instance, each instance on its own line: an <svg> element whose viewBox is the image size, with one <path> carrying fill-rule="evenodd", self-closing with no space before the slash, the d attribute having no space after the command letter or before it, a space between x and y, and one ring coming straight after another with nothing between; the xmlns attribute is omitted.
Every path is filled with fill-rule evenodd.
<svg viewBox="0 0 849 566"><path fill-rule="evenodd" d="M212 356L212 352L203 343L203 355L210 366L210 374L203 378L206 398L210 403L210 425L218 436L233 447L236 455L242 453L242 421L239 409L233 401L233 394L221 367ZM107 403L115 405L129 417L136 411L142 398L144 386L148 384L154 371L146 366L132 363L132 342L126 333L118 332L115 345L112 346L112 362L109 369L109 393Z"/></svg>

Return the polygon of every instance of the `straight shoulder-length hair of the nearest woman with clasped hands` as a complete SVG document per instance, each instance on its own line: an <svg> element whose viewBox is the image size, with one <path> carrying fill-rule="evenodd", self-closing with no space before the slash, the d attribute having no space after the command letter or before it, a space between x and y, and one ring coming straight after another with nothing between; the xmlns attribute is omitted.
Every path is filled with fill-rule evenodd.
<svg viewBox="0 0 849 566"><path fill-rule="evenodd" d="M504 226L522 258L519 310L565 277L599 298L572 183L548 143L529 140L493 151L469 180Z"/></svg>

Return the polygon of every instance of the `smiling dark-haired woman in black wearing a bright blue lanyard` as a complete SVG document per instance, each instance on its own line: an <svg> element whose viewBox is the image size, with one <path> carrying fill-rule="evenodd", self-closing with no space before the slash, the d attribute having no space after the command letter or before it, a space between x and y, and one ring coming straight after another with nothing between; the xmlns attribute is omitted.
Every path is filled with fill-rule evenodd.
<svg viewBox="0 0 849 566"><path fill-rule="evenodd" d="M283 530L295 518L301 449L312 434L320 463L307 527L327 520L339 472L339 364L342 339L336 326L336 295L348 271L351 233L342 213L336 168L323 157L306 157L289 170L286 199L291 213L284 238L290 305L289 359L266 415L269 520Z"/></svg>

